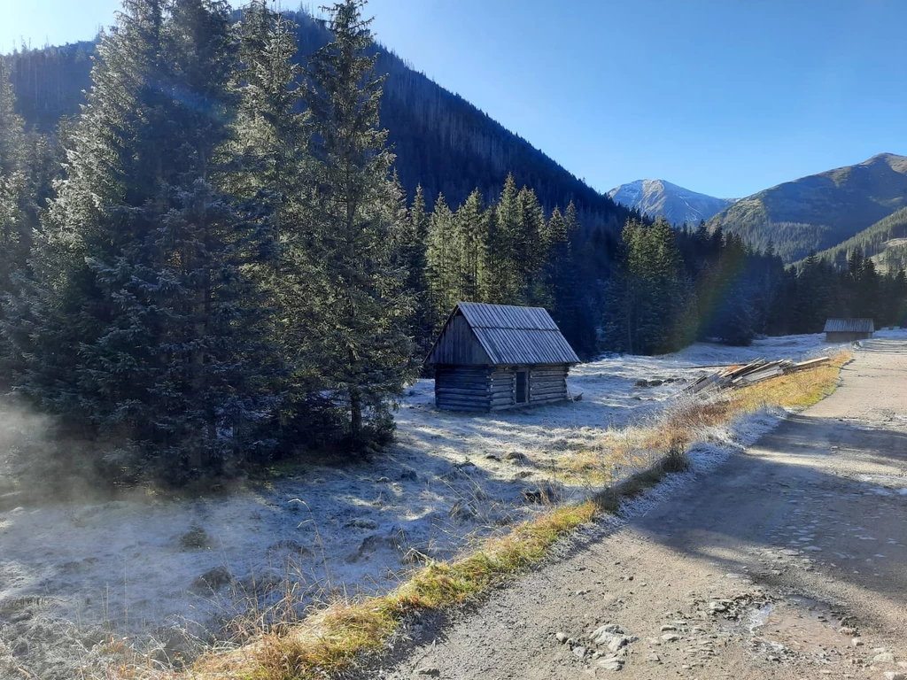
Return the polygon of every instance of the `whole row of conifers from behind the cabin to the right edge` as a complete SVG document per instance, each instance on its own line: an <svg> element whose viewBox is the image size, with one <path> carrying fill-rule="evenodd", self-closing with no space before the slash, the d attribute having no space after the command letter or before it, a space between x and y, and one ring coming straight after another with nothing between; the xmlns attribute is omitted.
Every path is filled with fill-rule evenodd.
<svg viewBox="0 0 907 680"><path fill-rule="evenodd" d="M674 352L697 340L749 345L756 335L821 332L832 316L907 323L902 268L885 275L855 250L843 266L812 256L785 267L718 228L629 219L619 235L580 228L573 204L546 214L511 178L486 205L474 190L457 209L440 196L426 214L424 316L429 345L457 300L545 306L580 356Z"/></svg>

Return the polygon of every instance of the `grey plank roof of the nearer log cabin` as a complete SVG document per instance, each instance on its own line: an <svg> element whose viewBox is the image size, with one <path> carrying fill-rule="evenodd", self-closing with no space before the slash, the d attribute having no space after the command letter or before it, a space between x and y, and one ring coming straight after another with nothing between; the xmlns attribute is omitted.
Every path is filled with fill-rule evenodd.
<svg viewBox="0 0 907 680"><path fill-rule="evenodd" d="M541 307L458 302L444 329L457 315L463 316L491 364L580 363L554 319ZM445 341L444 329L426 364L437 363L433 359L435 350Z"/></svg>

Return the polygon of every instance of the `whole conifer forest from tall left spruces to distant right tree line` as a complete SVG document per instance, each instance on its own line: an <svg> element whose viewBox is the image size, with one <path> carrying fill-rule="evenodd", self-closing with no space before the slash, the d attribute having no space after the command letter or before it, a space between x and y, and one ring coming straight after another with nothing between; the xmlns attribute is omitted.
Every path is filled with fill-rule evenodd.
<svg viewBox="0 0 907 680"><path fill-rule="evenodd" d="M859 248L785 267L469 129L488 162L433 165L387 131L434 124L421 81L388 78L362 0L328 16L125 0L53 115L17 94L54 53L0 59L0 390L92 443L59 470L180 485L372 451L461 300L543 306L583 358L904 318L903 268Z"/></svg>

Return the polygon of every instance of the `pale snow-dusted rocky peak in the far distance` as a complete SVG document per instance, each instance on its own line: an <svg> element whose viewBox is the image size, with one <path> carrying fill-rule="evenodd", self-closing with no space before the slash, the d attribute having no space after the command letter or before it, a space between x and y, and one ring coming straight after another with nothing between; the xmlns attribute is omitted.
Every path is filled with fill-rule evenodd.
<svg viewBox="0 0 907 680"><path fill-rule="evenodd" d="M664 217L675 225L709 219L734 203L732 199L717 199L665 180L636 180L611 189L608 195L628 208L649 217Z"/></svg>

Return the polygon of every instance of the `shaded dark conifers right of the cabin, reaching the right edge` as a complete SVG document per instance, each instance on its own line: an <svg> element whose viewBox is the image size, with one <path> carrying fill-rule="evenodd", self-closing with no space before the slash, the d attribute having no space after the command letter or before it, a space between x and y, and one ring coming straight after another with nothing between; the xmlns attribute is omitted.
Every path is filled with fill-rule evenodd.
<svg viewBox="0 0 907 680"><path fill-rule="evenodd" d="M854 251L844 267L815 255L785 267L721 228L673 230L629 220L605 283L600 348L672 352L694 340L748 345L756 335L819 333L829 317L907 323L903 269L876 272Z"/></svg>

